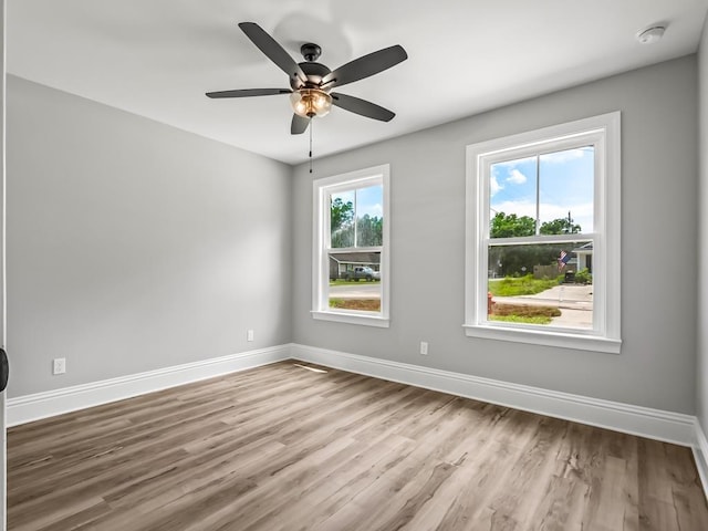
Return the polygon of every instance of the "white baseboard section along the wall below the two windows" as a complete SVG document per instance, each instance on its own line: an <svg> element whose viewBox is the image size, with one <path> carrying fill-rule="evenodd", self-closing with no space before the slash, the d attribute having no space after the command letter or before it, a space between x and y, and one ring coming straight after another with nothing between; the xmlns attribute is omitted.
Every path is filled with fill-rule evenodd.
<svg viewBox="0 0 708 531"><path fill-rule="evenodd" d="M302 362L475 398L631 435L696 446L696 417L344 352L292 345ZM708 455L708 454L706 454ZM707 485L704 481L704 485Z"/></svg>

